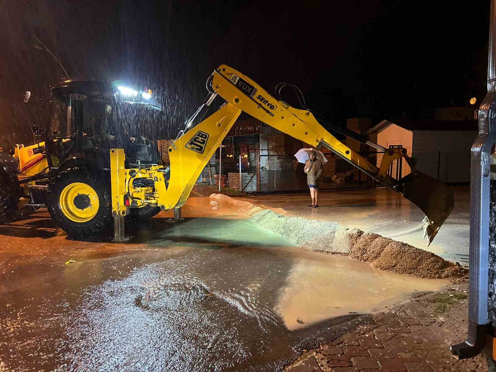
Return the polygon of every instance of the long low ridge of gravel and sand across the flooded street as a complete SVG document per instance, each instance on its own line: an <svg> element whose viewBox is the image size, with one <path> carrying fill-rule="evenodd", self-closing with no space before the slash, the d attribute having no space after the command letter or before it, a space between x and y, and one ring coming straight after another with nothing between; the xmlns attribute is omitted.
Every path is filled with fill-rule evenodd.
<svg viewBox="0 0 496 372"><path fill-rule="evenodd" d="M290 239L302 248L348 256L369 262L379 270L420 278L450 279L453 282L468 279L468 270L458 263L406 243L338 223L288 217L223 194L212 194L210 198L220 205L231 204L259 227Z"/></svg>

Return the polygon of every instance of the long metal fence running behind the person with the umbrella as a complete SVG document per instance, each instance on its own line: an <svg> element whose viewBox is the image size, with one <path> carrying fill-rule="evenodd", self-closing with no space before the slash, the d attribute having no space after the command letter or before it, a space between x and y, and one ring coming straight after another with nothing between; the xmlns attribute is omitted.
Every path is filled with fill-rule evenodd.
<svg viewBox="0 0 496 372"><path fill-rule="evenodd" d="M360 153L377 167L382 161L382 152ZM382 186L336 154L324 154L327 162L322 165L321 189L370 188ZM470 180L470 153L432 152L414 154L418 158L417 169L446 183L463 183ZM240 166L241 165L241 166ZM216 164L218 167L218 164ZM241 168L241 171L240 171ZM250 152L242 156L222 159L222 185L242 192L272 192L304 190L307 175L304 164L293 155L258 155ZM212 167L212 173L218 168ZM388 174L400 180L411 172L404 158L395 160ZM218 178L218 175L214 175ZM215 180L218 185L218 180Z"/></svg>

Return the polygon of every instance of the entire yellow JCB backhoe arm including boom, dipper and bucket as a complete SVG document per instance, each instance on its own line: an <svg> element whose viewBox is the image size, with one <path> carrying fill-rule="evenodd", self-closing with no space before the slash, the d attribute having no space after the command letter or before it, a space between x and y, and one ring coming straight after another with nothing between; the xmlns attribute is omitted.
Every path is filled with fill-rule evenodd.
<svg viewBox="0 0 496 372"><path fill-rule="evenodd" d="M210 85L213 91L210 91ZM179 208L186 203L201 171L226 137L240 113L245 111L263 123L314 147L319 145L327 147L374 180L395 192L400 192L405 198L414 202L426 214L423 227L429 244L451 213L454 205L451 190L438 180L418 172L415 169L415 161L407 156L405 149L384 149L383 159L380 167L377 168L334 137L315 119L310 111L298 110L283 101L276 100L248 76L226 65L219 66L213 72L207 80L207 89L209 89L210 95L202 107L208 106L217 94L227 102L214 114L189 130L187 129L191 125L192 119L187 123L187 131L168 148L171 163L170 175L166 175L167 172L158 166L135 170L134 172L133 170L123 170L126 175L131 173L133 174L132 177L148 177L155 181L154 194L143 193L147 200L143 198L133 200L138 202L138 206L141 203L148 203L160 205L163 210L169 210ZM195 116L200 112L200 109L197 110ZM380 148L380 146L368 141L367 144ZM398 182L388 176L386 172L391 162L400 158L405 158L412 173ZM117 172L118 163L113 167L115 172ZM113 182L112 209L115 216L122 215L123 209L125 209L124 200L120 195L124 195L129 190L130 197L134 193L139 195L139 191L133 191L132 179L129 179L129 176L126 176L125 179L125 185ZM164 179L167 183L164 183ZM120 189L114 191L118 186Z"/></svg>

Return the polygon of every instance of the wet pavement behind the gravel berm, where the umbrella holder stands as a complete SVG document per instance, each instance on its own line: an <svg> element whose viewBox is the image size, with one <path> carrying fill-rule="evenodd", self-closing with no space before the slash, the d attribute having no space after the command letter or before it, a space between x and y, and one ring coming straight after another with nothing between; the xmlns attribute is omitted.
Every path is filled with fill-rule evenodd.
<svg viewBox="0 0 496 372"><path fill-rule="evenodd" d="M412 202L388 189L320 191L319 208L308 208L310 193L246 196L241 199L289 216L337 222L428 250L468 265L470 187L451 186L455 206L427 247L423 238L424 213Z"/></svg>

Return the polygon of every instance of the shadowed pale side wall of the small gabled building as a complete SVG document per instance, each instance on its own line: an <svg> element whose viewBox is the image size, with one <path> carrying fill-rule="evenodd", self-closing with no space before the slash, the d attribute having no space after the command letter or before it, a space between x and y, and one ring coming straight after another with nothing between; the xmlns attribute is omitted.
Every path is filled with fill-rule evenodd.
<svg viewBox="0 0 496 372"><path fill-rule="evenodd" d="M413 157L417 169L442 182L470 181L470 148L477 137L476 130L415 130ZM439 154L440 152L440 154Z"/></svg>

